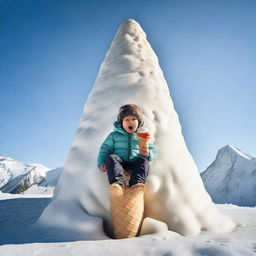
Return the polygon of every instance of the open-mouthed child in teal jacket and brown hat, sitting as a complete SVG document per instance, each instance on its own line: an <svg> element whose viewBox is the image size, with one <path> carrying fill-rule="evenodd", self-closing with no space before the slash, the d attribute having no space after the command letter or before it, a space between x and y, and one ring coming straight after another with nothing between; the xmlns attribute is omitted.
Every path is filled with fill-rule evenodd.
<svg viewBox="0 0 256 256"><path fill-rule="evenodd" d="M131 171L129 186L145 183L149 172L149 161L157 156L150 142L148 147L139 147L136 131L143 125L140 107L127 104L120 108L114 131L100 147L98 167L108 174L110 184L125 185L124 170Z"/></svg>

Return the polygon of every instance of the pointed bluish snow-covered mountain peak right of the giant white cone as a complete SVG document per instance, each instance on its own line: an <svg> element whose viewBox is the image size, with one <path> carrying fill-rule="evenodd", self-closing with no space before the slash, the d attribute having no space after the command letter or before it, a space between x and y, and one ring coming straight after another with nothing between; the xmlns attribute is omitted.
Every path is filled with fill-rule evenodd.
<svg viewBox="0 0 256 256"><path fill-rule="evenodd" d="M215 203L256 205L256 158L227 145L201 174Z"/></svg>

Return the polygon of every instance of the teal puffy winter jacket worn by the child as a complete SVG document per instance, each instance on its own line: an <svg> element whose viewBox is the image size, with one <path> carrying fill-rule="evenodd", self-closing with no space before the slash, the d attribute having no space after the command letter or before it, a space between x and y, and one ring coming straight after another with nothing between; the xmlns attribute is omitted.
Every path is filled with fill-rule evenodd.
<svg viewBox="0 0 256 256"><path fill-rule="evenodd" d="M105 164L106 158L115 154L122 160L131 162L138 157L146 158L149 161L157 157L157 149L152 142L149 142L149 155L144 157L139 154L138 139L136 133L128 133L121 128L121 125L114 122L114 130L105 139L100 147L97 164Z"/></svg>

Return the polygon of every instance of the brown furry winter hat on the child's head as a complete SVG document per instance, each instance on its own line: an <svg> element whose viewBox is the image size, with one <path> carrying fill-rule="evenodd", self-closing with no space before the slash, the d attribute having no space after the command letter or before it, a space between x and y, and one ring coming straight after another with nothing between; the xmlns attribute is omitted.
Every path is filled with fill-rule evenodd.
<svg viewBox="0 0 256 256"><path fill-rule="evenodd" d="M136 104L126 104L119 109L117 122L122 125L123 119L126 116L136 116L139 121L139 126L143 124L143 114L141 108Z"/></svg>

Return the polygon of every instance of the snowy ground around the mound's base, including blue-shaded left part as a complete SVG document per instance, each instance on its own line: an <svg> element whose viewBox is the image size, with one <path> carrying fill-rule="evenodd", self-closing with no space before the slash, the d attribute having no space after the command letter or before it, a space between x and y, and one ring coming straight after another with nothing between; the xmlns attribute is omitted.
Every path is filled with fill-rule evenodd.
<svg viewBox="0 0 256 256"><path fill-rule="evenodd" d="M241 226L229 234L182 237L169 232L124 240L70 241L53 230L29 228L50 202L42 195L0 194L0 255L256 255L256 208L219 205ZM60 231L58 231L60 232ZM55 233L56 238L56 233ZM72 240L76 240L75 236ZM65 242L63 242L65 241Z"/></svg>

